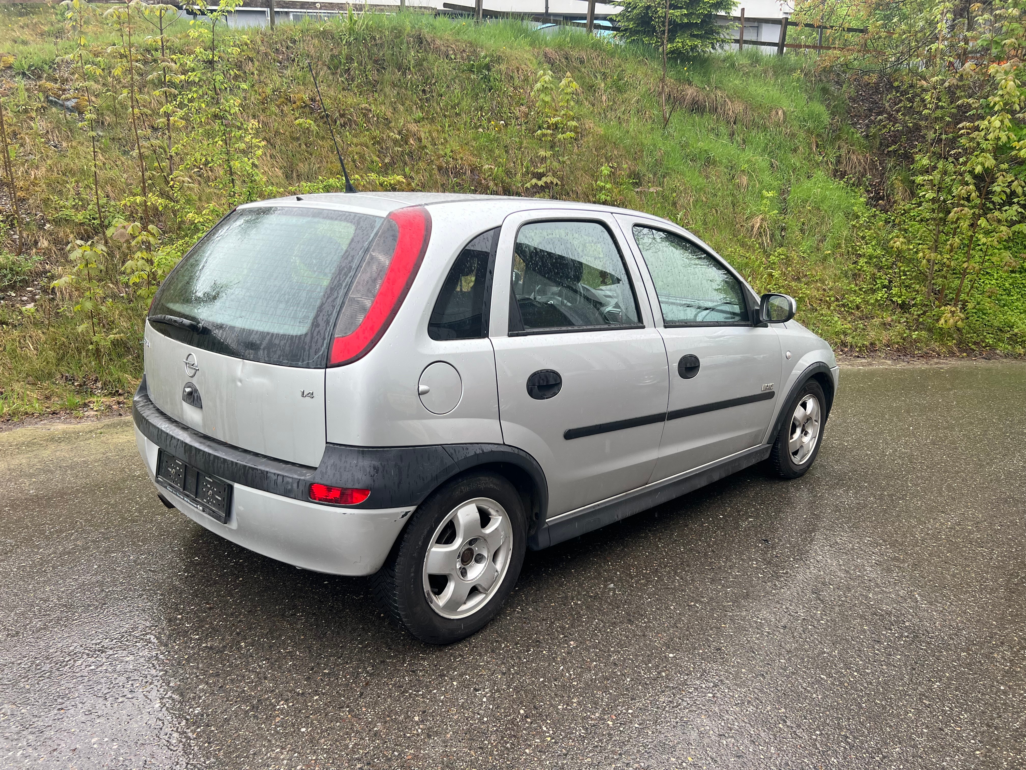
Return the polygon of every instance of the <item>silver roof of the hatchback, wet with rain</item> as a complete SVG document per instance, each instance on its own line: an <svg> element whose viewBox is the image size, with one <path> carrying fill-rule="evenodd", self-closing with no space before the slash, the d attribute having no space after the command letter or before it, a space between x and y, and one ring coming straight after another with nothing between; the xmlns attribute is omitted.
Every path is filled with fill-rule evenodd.
<svg viewBox="0 0 1026 770"><path fill-rule="evenodd" d="M595 211L609 211L616 214L629 214L632 216L643 216L647 219L658 220L673 225L672 222L664 220L643 211L634 211L629 208L602 205L599 203L581 203L573 200L553 200L551 198L522 198L506 195L472 195L465 193L424 193L424 192L364 192L364 193L311 193L309 195L289 195L282 198L272 198L261 200L255 203L246 203L240 208L258 207L265 205L304 205L317 208L345 208L346 210L363 210L367 214L387 215L389 211L403 206L423 205L433 206L445 203L487 203L489 206L507 204L508 213L524 211L538 208L576 208ZM678 227L677 225L673 225Z"/></svg>

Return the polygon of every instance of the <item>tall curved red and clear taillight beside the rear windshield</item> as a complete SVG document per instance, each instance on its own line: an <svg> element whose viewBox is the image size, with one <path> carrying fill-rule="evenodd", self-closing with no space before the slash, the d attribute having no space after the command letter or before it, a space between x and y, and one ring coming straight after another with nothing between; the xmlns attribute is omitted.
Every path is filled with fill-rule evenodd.
<svg viewBox="0 0 1026 770"><path fill-rule="evenodd" d="M430 236L431 215L423 206L388 216L339 315L329 367L361 358L385 334L417 277Z"/></svg>

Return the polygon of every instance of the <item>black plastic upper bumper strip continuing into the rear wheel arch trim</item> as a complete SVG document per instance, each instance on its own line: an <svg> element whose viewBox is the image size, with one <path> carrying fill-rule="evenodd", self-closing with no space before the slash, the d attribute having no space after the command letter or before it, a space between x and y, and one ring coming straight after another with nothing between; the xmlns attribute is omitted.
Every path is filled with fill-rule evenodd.
<svg viewBox="0 0 1026 770"><path fill-rule="evenodd" d="M513 475L535 487L526 495L536 508L529 518L545 521L548 485L534 457L502 444L446 444L424 447L347 447L328 444L316 468L277 460L204 435L165 415L150 399L146 377L132 398L132 420L140 432L160 449L193 467L226 482L310 502L311 484L368 489L359 505L347 508L399 508L420 505L453 476L481 466ZM510 479L520 490L517 479ZM332 507L332 506L326 506ZM534 522L528 521L528 529Z"/></svg>

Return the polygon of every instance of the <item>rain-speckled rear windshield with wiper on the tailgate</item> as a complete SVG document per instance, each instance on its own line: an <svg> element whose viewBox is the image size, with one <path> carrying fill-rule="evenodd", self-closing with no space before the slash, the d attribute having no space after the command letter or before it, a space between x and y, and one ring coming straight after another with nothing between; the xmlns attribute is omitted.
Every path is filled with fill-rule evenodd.
<svg viewBox="0 0 1026 770"><path fill-rule="evenodd" d="M195 347L288 367L320 368L349 284L382 223L378 217L299 206L235 211L164 281L154 329Z"/></svg>

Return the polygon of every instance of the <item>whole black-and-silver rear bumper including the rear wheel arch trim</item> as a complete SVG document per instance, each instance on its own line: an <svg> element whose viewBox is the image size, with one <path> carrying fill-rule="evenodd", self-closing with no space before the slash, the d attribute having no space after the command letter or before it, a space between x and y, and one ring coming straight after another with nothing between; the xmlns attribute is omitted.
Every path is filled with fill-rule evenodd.
<svg viewBox="0 0 1026 770"><path fill-rule="evenodd" d="M146 377L132 398L135 440L150 478L179 510L211 532L258 553L317 572L368 575L388 556L409 513L452 476L481 465L516 466L532 479L535 521L548 494L541 467L505 445L344 447L328 444L318 467L284 462L204 435L161 412ZM225 524L156 480L157 453L177 457L233 487ZM310 502L310 485L370 490L354 506Z"/></svg>

